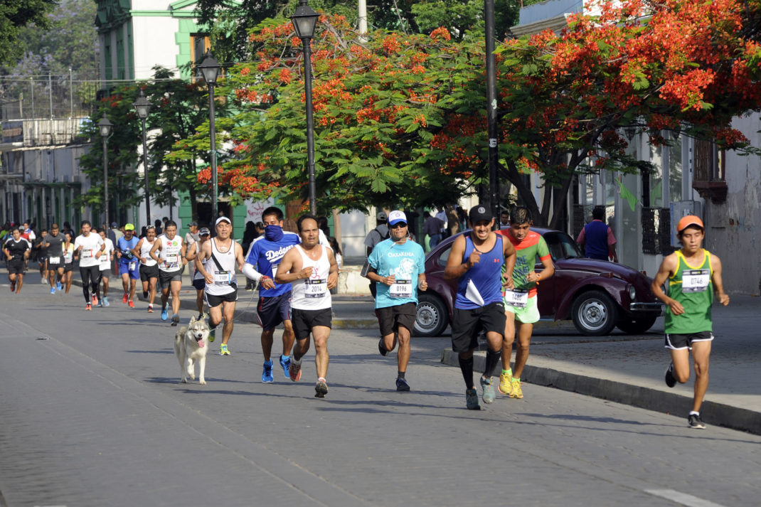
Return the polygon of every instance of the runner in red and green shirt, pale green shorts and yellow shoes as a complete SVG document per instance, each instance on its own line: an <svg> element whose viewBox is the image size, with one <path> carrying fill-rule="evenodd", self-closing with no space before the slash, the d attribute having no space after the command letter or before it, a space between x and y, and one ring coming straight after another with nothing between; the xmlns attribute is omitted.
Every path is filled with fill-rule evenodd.
<svg viewBox="0 0 761 507"><path fill-rule="evenodd" d="M504 297L506 321L505 336L502 339L502 373L499 375L498 389L501 394L511 398L522 398L521 374L528 359L533 323L539 320L537 286L540 280L546 280L555 273L555 267L552 266L552 257L549 256L549 248L542 235L530 231L531 214L528 209L513 209L508 221L510 228L497 233L508 238L516 250L514 289L506 290ZM534 271L537 258L544 266L542 273ZM510 368L510 356L513 352L516 327L518 343L513 371Z"/></svg>

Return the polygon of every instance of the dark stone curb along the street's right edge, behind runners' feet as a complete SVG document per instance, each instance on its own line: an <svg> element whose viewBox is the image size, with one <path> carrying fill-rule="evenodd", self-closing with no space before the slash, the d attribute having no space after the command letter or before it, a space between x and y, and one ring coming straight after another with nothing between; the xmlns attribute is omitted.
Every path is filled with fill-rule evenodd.
<svg viewBox="0 0 761 507"><path fill-rule="evenodd" d="M457 353L451 349L441 350L441 362L444 365L459 367ZM482 373L484 368L486 368L486 352L474 352L473 371ZM498 375L499 371L501 371L501 366L497 365L492 375ZM667 414L686 414L693 406L692 397L664 393L664 391L657 389L605 378L575 375L552 368L526 365L523 375L521 375L521 381ZM739 429L743 432L761 435L761 413L753 410L704 401L700 409L700 416L705 422L714 426L724 426L725 428Z"/></svg>

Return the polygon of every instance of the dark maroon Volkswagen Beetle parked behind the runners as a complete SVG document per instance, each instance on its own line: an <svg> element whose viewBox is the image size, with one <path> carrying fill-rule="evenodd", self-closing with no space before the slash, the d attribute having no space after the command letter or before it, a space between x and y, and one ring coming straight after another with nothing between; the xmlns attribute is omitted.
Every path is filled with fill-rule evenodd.
<svg viewBox="0 0 761 507"><path fill-rule="evenodd" d="M572 320L579 333L645 333L663 312L653 295L651 279L629 266L607 260L586 259L575 241L562 231L531 228L549 247L555 275L540 283L539 312L543 320ZM460 233L460 234L466 234ZM444 279L444 268L454 239L447 238L425 256L428 290L419 292L416 336L439 336L454 308L457 282ZM537 259L537 273L544 266Z"/></svg>

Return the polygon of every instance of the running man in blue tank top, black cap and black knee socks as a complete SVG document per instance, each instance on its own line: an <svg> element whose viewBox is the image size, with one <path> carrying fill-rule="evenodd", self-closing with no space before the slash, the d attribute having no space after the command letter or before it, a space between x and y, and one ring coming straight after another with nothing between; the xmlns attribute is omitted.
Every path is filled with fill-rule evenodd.
<svg viewBox="0 0 761 507"><path fill-rule="evenodd" d="M451 324L452 350L459 356L466 387L466 407L481 410L473 384L473 350L478 347L479 331L486 331L489 349L480 384L483 402L492 403L496 396L492 371L502 355L502 333L505 332L502 286L513 288L515 248L501 234L492 232L494 218L488 206L473 206L468 216L473 230L454 240L444 279L457 280ZM506 266L505 282L502 282L503 263Z"/></svg>

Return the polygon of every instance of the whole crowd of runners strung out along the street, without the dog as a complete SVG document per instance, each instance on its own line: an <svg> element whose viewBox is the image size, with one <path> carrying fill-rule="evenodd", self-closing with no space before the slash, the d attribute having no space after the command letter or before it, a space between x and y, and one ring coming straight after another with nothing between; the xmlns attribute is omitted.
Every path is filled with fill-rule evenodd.
<svg viewBox="0 0 761 507"><path fill-rule="evenodd" d="M395 210L383 215L387 218L387 238L378 234L368 244L365 276L375 289L375 314L380 328L378 351L387 356L398 346L396 390L409 391L406 370L418 292L428 289L425 253L412 240L404 212ZM496 391L512 398L524 397L521 373L529 355L533 324L540 319L537 292L541 282L553 275L553 266L544 239L530 230L531 217L526 208L513 209L505 217L508 227L499 231L492 230L495 219L487 206L474 206L468 218L471 230L455 238L444 277L457 284L451 321L452 348L458 353L465 381L466 407L479 410L479 394L473 381L473 351L482 333L488 343L485 373L479 378L482 402L493 403ZM72 231L61 233L54 224L41 241L47 252L41 273L44 271L51 294L56 290L68 293L73 263L78 261L84 309L91 311L94 306L110 305L109 281L115 264L116 276L122 279L123 304L135 308L135 289L140 280L148 301L147 311L154 311L156 292L160 289L161 320L176 326L180 321L182 273L192 262L199 318L205 317L204 308L208 307L210 342L215 341L221 326L221 356L231 356L229 343L238 293L236 275L243 273L259 288L256 316L262 327L262 381L274 381L272 345L275 329L282 325L278 362L283 375L291 381L300 380L301 361L314 340L315 396L325 397L327 342L333 320L330 291L336 287L339 273L334 248L313 215L298 219L298 234L283 230L284 216L277 207L265 209L262 220L264 234L250 243L247 252L231 238L231 221L224 216L216 220L215 234L193 222L186 238L177 235L177 224L172 221L165 222L158 235L155 227L145 228L142 238L135 236L134 225L126 224L116 243L107 237L105 228L96 231L86 220L81 222L81 234L76 237ZM689 379L689 351L692 351L696 387L688 421L690 427L704 428L699 409L708 387L708 356L713 340L711 305L714 294L722 305L727 305L729 298L721 282L721 262L702 249L704 227L700 218L684 217L677 225L677 235L682 248L664 258L652 290L667 306L666 347L672 362L665 381L673 387L677 381ZM31 250L28 231L24 227L14 228L3 247L11 292L21 291ZM537 260L543 266L539 272L535 270ZM665 292L661 289L664 283L667 283ZM514 343L516 353L511 368ZM495 383L492 372L500 362L501 374Z"/></svg>

